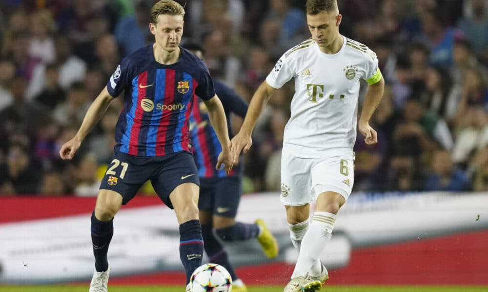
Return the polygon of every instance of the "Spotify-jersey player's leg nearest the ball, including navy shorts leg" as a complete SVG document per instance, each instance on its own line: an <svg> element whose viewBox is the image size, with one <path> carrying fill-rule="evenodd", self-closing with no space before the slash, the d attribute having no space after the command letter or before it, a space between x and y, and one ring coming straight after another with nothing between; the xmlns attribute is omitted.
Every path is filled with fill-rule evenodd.
<svg viewBox="0 0 488 292"><path fill-rule="evenodd" d="M168 156L151 177L161 200L176 213L180 224L180 259L186 272L186 283L202 265L203 237L198 218L200 180L193 156L186 151Z"/></svg>

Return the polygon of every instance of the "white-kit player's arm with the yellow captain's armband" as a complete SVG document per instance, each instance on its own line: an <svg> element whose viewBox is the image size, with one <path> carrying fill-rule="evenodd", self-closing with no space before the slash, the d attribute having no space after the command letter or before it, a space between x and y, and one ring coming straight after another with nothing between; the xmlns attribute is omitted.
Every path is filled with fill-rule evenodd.
<svg viewBox="0 0 488 292"><path fill-rule="evenodd" d="M376 69L376 73L366 79L368 87L366 89L366 97L363 103L363 110L358 122L358 129L365 136L365 143L372 145L378 143L378 135L376 131L369 126L369 120L373 116L374 111L383 97L383 90L385 88L385 79L381 75L380 69Z"/></svg>

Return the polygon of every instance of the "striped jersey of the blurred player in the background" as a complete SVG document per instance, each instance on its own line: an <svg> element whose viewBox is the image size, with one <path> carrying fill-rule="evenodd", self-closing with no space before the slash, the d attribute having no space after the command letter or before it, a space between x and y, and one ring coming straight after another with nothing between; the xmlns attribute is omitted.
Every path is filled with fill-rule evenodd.
<svg viewBox="0 0 488 292"><path fill-rule="evenodd" d="M232 125L230 123L230 114L235 113L242 118L247 112L247 103L235 91L227 87L224 83L214 81L215 92L224 106L225 116L227 117L227 128L229 137L232 137ZM195 106L190 115L190 135L193 145L193 158L198 168L198 174L201 178L224 177L225 169L215 170L217 158L222 152L222 146L219 143L217 134L210 125L208 111L203 102L199 102L198 96L194 96ZM240 175L242 173L242 164L235 165L231 175Z"/></svg>

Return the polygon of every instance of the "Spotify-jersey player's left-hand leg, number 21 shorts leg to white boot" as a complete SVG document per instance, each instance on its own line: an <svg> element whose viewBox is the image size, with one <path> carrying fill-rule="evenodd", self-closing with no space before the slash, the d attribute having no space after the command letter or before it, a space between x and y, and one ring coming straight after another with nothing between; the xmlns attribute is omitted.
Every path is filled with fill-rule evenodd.
<svg viewBox="0 0 488 292"><path fill-rule="evenodd" d="M136 194L148 177L144 169L134 164L130 155L116 152L107 167L100 185L100 191L91 216L91 238L95 256L95 272L90 284L90 292L106 292L110 266L107 254L114 234L113 219L122 204L126 204Z"/></svg>

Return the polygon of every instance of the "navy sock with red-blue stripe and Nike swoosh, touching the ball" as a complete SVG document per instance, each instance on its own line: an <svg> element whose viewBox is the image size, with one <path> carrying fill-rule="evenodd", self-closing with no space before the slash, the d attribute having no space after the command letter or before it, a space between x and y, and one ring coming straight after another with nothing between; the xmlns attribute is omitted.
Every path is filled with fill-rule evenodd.
<svg viewBox="0 0 488 292"><path fill-rule="evenodd" d="M203 237L199 220L186 221L180 224L180 258L186 272L186 283L191 274L202 265Z"/></svg>

